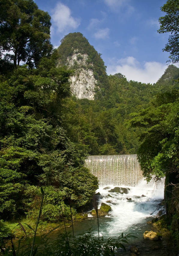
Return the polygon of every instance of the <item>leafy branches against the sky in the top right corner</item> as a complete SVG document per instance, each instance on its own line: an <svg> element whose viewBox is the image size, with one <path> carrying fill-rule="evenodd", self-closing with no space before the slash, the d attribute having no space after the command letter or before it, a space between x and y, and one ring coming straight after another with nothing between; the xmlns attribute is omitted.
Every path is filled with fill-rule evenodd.
<svg viewBox="0 0 179 256"><path fill-rule="evenodd" d="M171 33L163 51L169 52L170 61L176 63L179 61L179 1L168 0L161 11L166 15L159 18L161 25L158 33Z"/></svg>

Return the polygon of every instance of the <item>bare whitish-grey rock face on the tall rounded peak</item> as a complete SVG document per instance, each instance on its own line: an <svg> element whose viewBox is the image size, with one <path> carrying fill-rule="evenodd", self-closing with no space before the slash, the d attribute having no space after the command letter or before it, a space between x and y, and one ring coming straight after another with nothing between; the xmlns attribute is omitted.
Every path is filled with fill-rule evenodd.
<svg viewBox="0 0 179 256"><path fill-rule="evenodd" d="M94 99L94 88L97 80L94 78L93 64L87 63L88 55L80 54L78 50L74 50L72 56L67 58L67 66L75 67L75 74L71 77L71 92L79 99ZM91 68L89 68L91 67Z"/></svg>

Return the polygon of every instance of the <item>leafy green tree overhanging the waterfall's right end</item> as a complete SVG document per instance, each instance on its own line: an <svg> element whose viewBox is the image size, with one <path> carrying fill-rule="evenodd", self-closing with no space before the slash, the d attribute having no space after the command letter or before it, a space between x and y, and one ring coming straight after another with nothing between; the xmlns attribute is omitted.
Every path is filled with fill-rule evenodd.
<svg viewBox="0 0 179 256"><path fill-rule="evenodd" d="M129 121L132 127L143 127L138 158L147 181L153 177L165 179L166 212L170 223L179 215L179 92L157 95L155 105L134 113ZM160 101L158 98L160 97ZM163 98L163 102L162 102ZM168 102L167 102L168 101ZM173 226L178 230L179 223Z"/></svg>

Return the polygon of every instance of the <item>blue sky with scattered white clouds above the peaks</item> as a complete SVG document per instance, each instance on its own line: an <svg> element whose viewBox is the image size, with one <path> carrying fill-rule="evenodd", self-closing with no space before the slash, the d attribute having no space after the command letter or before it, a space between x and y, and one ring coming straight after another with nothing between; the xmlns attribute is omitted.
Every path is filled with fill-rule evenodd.
<svg viewBox="0 0 179 256"><path fill-rule="evenodd" d="M35 0L51 16L51 42L57 47L68 33L81 32L102 54L107 74L155 83L166 69L162 49L167 34L157 33L164 0Z"/></svg>

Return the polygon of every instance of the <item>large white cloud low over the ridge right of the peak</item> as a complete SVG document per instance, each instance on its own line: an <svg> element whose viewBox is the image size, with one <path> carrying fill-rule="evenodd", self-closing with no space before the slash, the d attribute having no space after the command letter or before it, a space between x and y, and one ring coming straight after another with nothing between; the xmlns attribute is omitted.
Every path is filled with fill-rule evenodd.
<svg viewBox="0 0 179 256"><path fill-rule="evenodd" d="M107 67L108 74L121 73L126 76L127 80L134 80L142 83L156 83L163 75L167 68L166 64L148 61L142 66L134 57L119 60L111 60ZM115 63L115 64L114 64Z"/></svg>

